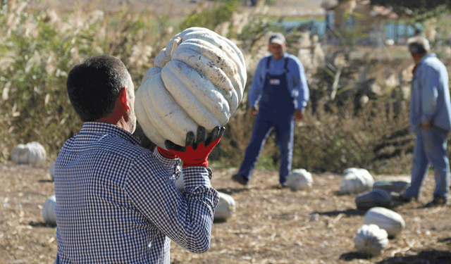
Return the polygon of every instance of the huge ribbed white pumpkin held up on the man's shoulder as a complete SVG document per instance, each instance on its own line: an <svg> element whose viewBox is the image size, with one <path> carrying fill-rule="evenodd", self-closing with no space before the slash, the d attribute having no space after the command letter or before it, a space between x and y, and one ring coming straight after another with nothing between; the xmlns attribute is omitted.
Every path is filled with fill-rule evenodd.
<svg viewBox="0 0 451 264"><path fill-rule="evenodd" d="M242 52L203 27L176 34L142 78L135 112L144 134L166 149L166 139L185 146L187 132L224 126L237 109L247 73Z"/></svg>

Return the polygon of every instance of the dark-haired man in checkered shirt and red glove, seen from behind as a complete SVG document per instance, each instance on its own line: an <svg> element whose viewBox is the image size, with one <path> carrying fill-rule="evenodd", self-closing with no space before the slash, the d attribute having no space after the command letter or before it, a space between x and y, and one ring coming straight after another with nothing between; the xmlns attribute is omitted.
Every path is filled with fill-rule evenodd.
<svg viewBox="0 0 451 264"><path fill-rule="evenodd" d="M88 58L70 70L70 102L84 122L55 162L55 263L170 263L171 240L194 253L209 249L218 192L207 167L223 127L186 146L167 142L152 153L135 131L135 91L113 56ZM185 191L175 187L183 161Z"/></svg>

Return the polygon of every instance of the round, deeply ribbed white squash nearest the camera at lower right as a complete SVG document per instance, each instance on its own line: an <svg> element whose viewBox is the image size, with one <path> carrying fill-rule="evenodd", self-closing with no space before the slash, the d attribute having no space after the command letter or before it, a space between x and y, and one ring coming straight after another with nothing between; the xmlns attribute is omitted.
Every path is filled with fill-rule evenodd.
<svg viewBox="0 0 451 264"><path fill-rule="evenodd" d="M360 253L378 256L388 246L388 234L377 225L362 225L354 237L354 246Z"/></svg>

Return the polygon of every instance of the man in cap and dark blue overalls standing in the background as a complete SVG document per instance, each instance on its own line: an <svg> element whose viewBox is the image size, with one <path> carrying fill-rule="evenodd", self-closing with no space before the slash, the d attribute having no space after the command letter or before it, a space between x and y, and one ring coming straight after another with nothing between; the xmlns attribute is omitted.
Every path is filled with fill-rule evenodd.
<svg viewBox="0 0 451 264"><path fill-rule="evenodd" d="M302 63L296 56L285 52L287 47L283 34L271 34L268 44L271 54L259 61L249 88L250 111L256 118L245 158L240 170L232 176L232 180L243 185L249 184L261 149L273 128L280 149L281 187L285 186L291 170L295 121L304 118L309 88Z"/></svg>

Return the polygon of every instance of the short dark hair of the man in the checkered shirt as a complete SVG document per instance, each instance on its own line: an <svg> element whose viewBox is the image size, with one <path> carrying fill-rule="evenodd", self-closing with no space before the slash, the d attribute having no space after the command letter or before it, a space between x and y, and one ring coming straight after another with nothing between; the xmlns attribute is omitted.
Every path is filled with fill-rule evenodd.
<svg viewBox="0 0 451 264"><path fill-rule="evenodd" d="M109 115L121 89L132 89L129 76L123 62L110 55L92 56L75 65L66 87L81 120L89 122Z"/></svg>

